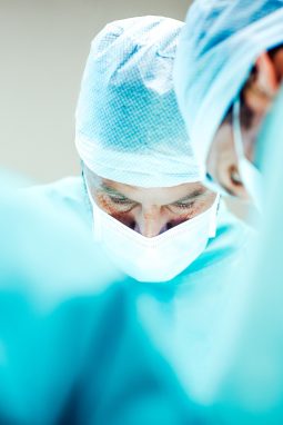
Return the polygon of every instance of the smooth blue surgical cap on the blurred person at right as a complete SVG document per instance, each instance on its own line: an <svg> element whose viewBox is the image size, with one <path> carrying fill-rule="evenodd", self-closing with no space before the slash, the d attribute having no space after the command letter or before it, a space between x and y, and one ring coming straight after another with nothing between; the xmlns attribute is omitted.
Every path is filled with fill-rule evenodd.
<svg viewBox="0 0 283 425"><path fill-rule="evenodd" d="M210 145L257 57L283 42L283 0L196 0L180 36L174 82L204 176Z"/></svg>

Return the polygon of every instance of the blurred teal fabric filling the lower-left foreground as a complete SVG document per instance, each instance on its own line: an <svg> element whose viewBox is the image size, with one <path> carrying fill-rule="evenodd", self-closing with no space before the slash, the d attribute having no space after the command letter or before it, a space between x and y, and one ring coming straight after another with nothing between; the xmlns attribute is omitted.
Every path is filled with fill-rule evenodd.
<svg viewBox="0 0 283 425"><path fill-rule="evenodd" d="M0 424L188 424L194 407L72 199L1 191ZM54 202L57 199L57 202Z"/></svg>

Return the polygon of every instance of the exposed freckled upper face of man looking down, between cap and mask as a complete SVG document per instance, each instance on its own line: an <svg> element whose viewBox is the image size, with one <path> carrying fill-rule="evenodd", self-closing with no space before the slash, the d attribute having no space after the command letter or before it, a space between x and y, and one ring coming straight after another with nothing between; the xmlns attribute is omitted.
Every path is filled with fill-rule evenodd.
<svg viewBox="0 0 283 425"><path fill-rule="evenodd" d="M125 226L152 238L209 209L215 194L200 182L142 188L108 180L83 167L97 205Z"/></svg>

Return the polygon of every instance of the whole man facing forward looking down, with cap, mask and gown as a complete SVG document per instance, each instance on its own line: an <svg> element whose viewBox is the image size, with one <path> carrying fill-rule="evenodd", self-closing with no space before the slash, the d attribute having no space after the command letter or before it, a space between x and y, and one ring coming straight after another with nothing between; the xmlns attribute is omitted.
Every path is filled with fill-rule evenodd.
<svg viewBox="0 0 283 425"><path fill-rule="evenodd" d="M173 89L182 28L141 17L94 38L75 113L83 177L27 196L88 227L101 268L120 270L149 340L196 401L250 233L200 182Z"/></svg>

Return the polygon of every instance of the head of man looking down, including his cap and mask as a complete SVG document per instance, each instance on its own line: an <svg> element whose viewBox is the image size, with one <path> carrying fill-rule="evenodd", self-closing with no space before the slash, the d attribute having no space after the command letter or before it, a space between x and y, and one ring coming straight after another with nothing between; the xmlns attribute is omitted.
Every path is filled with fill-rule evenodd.
<svg viewBox="0 0 283 425"><path fill-rule="evenodd" d="M181 28L150 17L109 24L92 42L77 108L94 237L141 281L171 280L215 234L219 199L199 181L173 91Z"/></svg>

